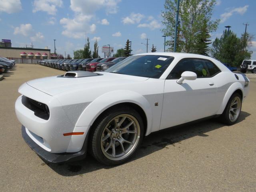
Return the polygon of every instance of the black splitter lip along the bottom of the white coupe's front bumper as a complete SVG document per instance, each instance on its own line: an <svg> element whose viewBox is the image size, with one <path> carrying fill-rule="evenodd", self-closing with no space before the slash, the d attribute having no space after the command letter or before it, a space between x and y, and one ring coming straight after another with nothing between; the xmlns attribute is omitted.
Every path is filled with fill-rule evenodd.
<svg viewBox="0 0 256 192"><path fill-rule="evenodd" d="M88 144L88 134L86 136L86 139L84 140L84 145L82 149L79 152L74 153L51 153L43 148L41 148L36 142L34 142L27 134L25 126L22 125L21 127L21 133L22 137L25 140L25 142L42 158L43 160L46 160L47 162L52 163L59 163L59 162L67 162L67 161L76 161L76 160L82 160L86 157L87 152L87 144Z"/></svg>

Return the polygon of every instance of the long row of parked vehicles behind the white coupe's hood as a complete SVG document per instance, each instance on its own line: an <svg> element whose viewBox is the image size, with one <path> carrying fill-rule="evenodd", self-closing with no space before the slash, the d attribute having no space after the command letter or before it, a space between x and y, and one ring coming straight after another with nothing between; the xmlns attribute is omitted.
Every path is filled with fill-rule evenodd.
<svg viewBox="0 0 256 192"><path fill-rule="evenodd" d="M127 57L88 59L47 59L38 64L64 71L104 71Z"/></svg>

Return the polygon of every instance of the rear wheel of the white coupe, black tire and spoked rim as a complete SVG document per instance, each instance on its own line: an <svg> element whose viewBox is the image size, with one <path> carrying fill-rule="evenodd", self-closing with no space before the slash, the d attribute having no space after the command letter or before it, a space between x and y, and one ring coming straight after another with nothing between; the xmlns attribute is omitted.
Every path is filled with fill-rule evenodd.
<svg viewBox="0 0 256 192"><path fill-rule="evenodd" d="M241 108L242 108L241 95L238 93L235 93L228 100L226 108L223 111L222 115L220 116L220 120L223 123L228 125L234 124L240 116Z"/></svg>

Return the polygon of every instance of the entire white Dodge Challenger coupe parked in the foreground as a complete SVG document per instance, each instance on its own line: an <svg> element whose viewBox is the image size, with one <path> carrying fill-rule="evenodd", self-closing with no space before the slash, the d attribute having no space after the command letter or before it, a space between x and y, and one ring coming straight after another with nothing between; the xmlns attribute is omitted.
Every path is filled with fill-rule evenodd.
<svg viewBox="0 0 256 192"><path fill-rule="evenodd" d="M151 132L209 117L234 124L249 84L207 56L138 54L105 72L28 81L15 109L24 140L44 160L78 160L88 150L117 165Z"/></svg>

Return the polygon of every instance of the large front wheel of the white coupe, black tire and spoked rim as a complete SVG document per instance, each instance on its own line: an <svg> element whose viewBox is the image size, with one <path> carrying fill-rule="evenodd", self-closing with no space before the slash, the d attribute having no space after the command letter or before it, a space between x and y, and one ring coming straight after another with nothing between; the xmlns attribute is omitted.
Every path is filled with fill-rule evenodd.
<svg viewBox="0 0 256 192"><path fill-rule="evenodd" d="M128 161L140 146L144 134L138 112L124 106L107 110L96 120L90 135L90 152L106 165Z"/></svg>

